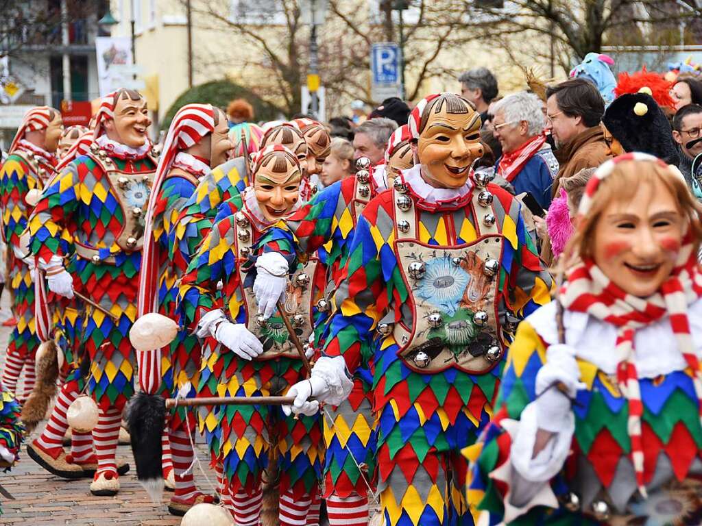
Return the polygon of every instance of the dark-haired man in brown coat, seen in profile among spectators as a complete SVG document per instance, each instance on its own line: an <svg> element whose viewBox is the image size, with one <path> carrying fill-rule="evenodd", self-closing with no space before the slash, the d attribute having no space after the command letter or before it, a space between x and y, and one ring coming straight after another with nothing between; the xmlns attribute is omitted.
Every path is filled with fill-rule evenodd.
<svg viewBox="0 0 702 526"><path fill-rule="evenodd" d="M553 184L558 194L561 177L571 177L583 168L596 168L610 157L600 120L604 100L595 85L585 79L571 79L546 88L546 128L556 143L560 168ZM552 264L550 243L543 240L541 257Z"/></svg>

